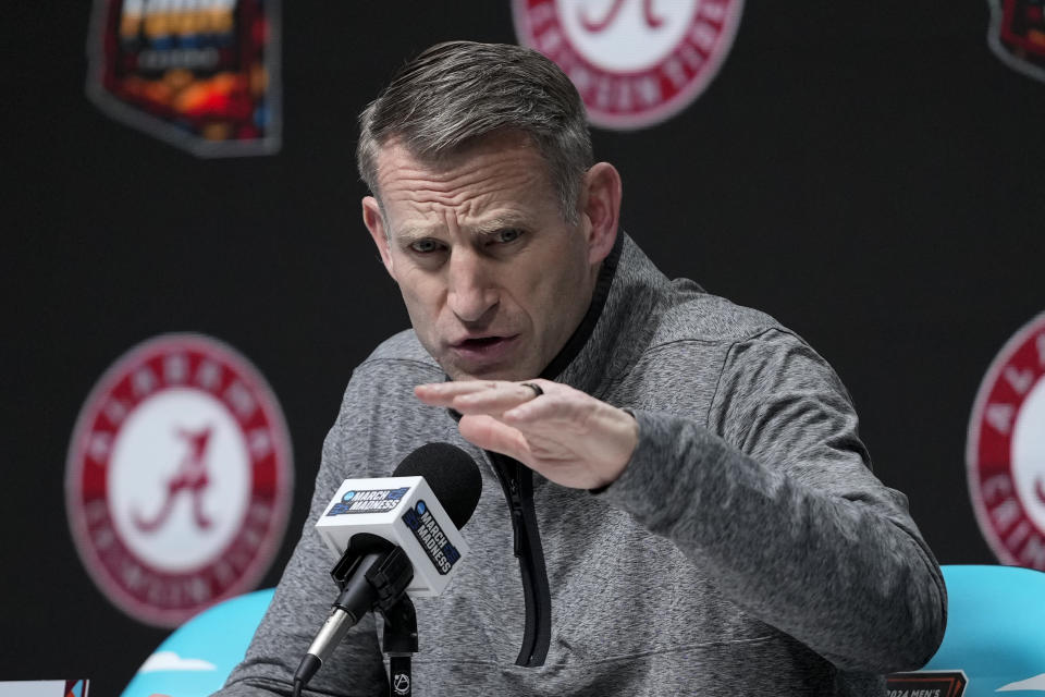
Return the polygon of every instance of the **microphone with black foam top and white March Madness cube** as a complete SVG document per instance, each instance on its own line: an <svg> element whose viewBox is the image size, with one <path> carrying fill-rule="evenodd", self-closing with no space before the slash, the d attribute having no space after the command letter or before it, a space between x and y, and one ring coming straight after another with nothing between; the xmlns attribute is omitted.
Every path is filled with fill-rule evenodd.
<svg viewBox="0 0 1045 697"><path fill-rule="evenodd" d="M294 674L295 694L371 608L443 591L468 552L458 530L481 492L475 461L450 443L421 445L391 477L341 485L316 529L341 555L331 576L342 592Z"/></svg>

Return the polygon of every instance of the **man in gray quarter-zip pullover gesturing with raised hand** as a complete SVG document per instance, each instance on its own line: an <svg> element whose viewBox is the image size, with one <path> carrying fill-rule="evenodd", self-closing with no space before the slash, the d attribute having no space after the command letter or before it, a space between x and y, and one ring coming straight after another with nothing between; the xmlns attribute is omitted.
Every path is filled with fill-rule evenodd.
<svg viewBox="0 0 1045 697"><path fill-rule="evenodd" d="M882 674L932 656L939 568L871 474L845 388L618 233L620 178L553 63L435 46L360 123L364 222L413 331L354 371L222 695L288 692L335 591L317 516L431 441L468 450L483 492L471 554L416 601L418 694L884 695ZM368 617L309 688L386 680Z"/></svg>

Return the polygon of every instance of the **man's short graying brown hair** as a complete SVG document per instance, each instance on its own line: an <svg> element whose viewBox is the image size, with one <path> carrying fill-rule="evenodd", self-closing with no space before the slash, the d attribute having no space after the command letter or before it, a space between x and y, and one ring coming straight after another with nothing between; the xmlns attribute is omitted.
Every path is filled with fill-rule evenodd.
<svg viewBox="0 0 1045 697"><path fill-rule="evenodd" d="M390 139L438 162L501 131L529 136L548 162L563 218L575 222L594 161L585 106L555 63L521 46L448 41L407 62L359 114L359 175L380 200L377 156Z"/></svg>

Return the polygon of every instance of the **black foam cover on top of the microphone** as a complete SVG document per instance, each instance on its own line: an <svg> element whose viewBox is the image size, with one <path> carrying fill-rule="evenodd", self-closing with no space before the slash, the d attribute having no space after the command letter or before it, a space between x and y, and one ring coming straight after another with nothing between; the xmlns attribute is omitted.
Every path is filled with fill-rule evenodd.
<svg viewBox="0 0 1045 697"><path fill-rule="evenodd" d="M471 455L450 443L426 443L403 458L393 477L425 477L459 530L475 513L482 475Z"/></svg>

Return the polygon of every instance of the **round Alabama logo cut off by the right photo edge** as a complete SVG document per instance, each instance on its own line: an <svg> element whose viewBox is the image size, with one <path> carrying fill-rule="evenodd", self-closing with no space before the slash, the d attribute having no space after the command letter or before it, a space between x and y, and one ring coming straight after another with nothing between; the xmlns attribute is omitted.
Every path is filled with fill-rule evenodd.
<svg viewBox="0 0 1045 697"><path fill-rule="evenodd" d="M969 490L998 559L1045 571L1045 313L1012 337L969 421Z"/></svg>

